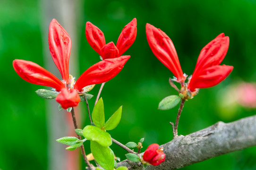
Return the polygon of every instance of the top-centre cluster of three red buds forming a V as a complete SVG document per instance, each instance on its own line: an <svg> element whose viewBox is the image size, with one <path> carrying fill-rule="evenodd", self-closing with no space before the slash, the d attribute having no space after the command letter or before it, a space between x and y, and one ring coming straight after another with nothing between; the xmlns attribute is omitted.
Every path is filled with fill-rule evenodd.
<svg viewBox="0 0 256 170"><path fill-rule="evenodd" d="M134 18L126 25L119 35L117 46L114 42L106 44L102 31L90 22L86 22L85 36L90 46L102 59L112 59L120 57L133 44L137 35L137 20Z"/></svg>

